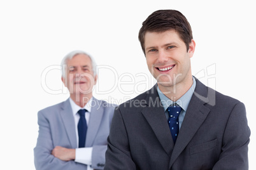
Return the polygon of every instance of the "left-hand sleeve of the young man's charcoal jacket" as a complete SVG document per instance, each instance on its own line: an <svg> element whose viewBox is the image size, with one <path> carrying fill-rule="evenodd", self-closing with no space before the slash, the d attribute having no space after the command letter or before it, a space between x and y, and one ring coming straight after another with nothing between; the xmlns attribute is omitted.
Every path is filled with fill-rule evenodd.
<svg viewBox="0 0 256 170"><path fill-rule="evenodd" d="M113 115L104 169L136 169L136 165L132 161L129 138L119 108L115 109Z"/></svg>

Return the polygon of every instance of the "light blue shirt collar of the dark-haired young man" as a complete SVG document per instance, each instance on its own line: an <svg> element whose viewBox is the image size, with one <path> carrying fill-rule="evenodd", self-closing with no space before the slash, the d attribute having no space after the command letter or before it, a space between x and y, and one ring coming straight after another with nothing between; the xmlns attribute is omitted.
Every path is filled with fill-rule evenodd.
<svg viewBox="0 0 256 170"><path fill-rule="evenodd" d="M179 100L176 101L176 103L178 105L180 105L180 107L183 110L185 110L185 112L187 111L188 104L189 104L190 99L192 98L192 95L196 88L196 79L194 77L192 77L192 79L193 79L193 84L190 87L190 89L188 89L188 91L183 96L181 96L181 98ZM173 104L173 101L170 100L169 98L167 98L167 96L164 95L162 93L162 91L160 91L158 86L157 86L157 93L158 93L160 101L164 107L164 110L166 110L169 107L169 105Z"/></svg>

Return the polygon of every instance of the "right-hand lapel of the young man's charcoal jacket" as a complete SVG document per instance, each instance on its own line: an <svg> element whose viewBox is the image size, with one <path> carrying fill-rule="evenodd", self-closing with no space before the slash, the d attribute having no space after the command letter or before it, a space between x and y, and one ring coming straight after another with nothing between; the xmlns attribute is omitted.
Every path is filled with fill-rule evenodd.
<svg viewBox="0 0 256 170"><path fill-rule="evenodd" d="M201 124L203 124L204 120L210 112L210 108L204 106L205 103L209 102L208 95L210 93L208 93L207 87L204 86L200 81L197 80L196 83L197 85L194 91L194 95L192 96L188 105L184 121L176 140L176 144L173 148L173 154L171 155L169 168L171 168L174 161L181 154L184 148L187 147L188 143L196 134L197 130L200 128Z"/></svg>

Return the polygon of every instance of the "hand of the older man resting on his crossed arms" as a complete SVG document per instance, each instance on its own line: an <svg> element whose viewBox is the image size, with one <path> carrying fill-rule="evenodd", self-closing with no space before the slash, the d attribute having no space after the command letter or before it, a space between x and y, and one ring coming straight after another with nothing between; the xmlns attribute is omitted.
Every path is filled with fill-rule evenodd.
<svg viewBox="0 0 256 170"><path fill-rule="evenodd" d="M64 161L75 160L76 149L57 146L53 148L52 155Z"/></svg>

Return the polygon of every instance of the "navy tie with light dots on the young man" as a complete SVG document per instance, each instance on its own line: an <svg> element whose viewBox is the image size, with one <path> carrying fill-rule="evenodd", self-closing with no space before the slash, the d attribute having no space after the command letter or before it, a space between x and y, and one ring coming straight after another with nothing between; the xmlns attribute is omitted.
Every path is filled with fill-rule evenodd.
<svg viewBox="0 0 256 170"><path fill-rule="evenodd" d="M181 107L174 103L173 105L170 105L167 110L169 113L168 124L171 131L171 136L173 137L173 141L175 143L179 133L179 115L181 112Z"/></svg>

